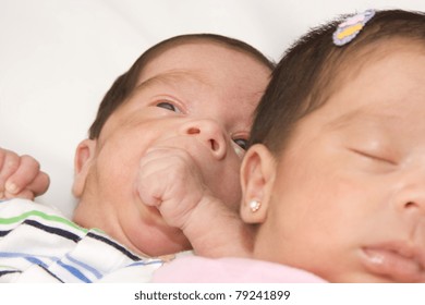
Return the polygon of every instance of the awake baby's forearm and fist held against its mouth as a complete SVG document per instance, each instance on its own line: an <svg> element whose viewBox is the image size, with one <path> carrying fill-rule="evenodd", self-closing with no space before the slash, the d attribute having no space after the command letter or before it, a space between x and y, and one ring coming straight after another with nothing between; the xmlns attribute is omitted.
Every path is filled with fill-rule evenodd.
<svg viewBox="0 0 425 305"><path fill-rule="evenodd" d="M141 160L141 199L157 206L166 222L180 228L195 253L208 257L250 256L252 234L238 211L210 194L192 157L156 148Z"/></svg>

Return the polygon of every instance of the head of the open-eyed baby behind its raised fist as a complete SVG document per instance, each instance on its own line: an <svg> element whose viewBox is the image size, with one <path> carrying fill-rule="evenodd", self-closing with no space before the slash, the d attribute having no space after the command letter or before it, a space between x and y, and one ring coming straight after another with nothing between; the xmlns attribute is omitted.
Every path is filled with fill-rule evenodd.
<svg viewBox="0 0 425 305"><path fill-rule="evenodd" d="M107 93L77 148L74 220L139 253L190 248L141 202L141 158L149 148L185 150L212 194L236 209L241 158L271 69L253 47L218 35L178 36L146 51Z"/></svg>

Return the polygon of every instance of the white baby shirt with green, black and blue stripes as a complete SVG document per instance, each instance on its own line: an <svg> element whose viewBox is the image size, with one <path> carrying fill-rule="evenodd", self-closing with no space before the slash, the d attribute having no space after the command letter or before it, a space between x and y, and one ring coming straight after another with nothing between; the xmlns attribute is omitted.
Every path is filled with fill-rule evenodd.
<svg viewBox="0 0 425 305"><path fill-rule="evenodd" d="M45 205L0 202L0 282L148 282L162 263Z"/></svg>

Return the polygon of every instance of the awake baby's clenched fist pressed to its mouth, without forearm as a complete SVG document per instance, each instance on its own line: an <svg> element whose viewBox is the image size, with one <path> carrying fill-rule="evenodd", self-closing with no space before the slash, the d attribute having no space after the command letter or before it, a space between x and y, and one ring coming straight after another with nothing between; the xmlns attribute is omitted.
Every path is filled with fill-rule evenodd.
<svg viewBox="0 0 425 305"><path fill-rule="evenodd" d="M158 207L169 225L182 230L207 193L193 158L178 148L154 148L142 158L137 191L144 204Z"/></svg>

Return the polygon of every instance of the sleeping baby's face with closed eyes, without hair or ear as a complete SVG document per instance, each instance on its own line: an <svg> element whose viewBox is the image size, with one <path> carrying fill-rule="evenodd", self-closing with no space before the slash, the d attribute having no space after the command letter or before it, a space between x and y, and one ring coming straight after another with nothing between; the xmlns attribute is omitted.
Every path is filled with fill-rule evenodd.
<svg viewBox="0 0 425 305"><path fill-rule="evenodd" d="M300 121L262 203L257 258L332 282L425 281L425 51L394 50Z"/></svg>

